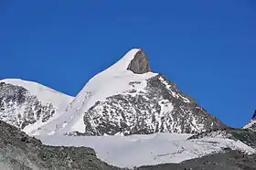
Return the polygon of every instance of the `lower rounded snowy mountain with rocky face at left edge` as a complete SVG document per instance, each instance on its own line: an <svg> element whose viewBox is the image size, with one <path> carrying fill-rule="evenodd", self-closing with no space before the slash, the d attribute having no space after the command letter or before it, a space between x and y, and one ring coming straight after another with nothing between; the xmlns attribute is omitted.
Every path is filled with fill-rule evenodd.
<svg viewBox="0 0 256 170"><path fill-rule="evenodd" d="M27 80L0 80L0 119L25 132L58 117L73 97Z"/></svg>

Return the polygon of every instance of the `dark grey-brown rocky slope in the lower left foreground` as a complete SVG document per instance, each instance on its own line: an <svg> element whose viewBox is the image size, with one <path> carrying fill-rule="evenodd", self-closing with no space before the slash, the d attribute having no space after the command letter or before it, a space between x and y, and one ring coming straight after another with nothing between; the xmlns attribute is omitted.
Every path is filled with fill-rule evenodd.
<svg viewBox="0 0 256 170"><path fill-rule="evenodd" d="M53 147L0 121L0 169L119 169L99 160L87 147Z"/></svg>

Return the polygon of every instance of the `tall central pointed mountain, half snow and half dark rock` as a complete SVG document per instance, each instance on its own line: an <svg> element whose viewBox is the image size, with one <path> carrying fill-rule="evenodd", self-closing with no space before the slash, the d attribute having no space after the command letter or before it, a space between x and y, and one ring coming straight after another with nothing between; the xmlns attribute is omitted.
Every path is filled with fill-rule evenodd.
<svg viewBox="0 0 256 170"><path fill-rule="evenodd" d="M199 133L226 127L162 74L142 49L94 76L58 119L37 133L70 135Z"/></svg>

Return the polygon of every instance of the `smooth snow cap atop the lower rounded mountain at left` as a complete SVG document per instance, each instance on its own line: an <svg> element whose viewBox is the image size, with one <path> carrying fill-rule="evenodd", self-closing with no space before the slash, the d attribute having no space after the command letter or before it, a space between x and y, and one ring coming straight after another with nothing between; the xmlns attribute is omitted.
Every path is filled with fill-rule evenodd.
<svg viewBox="0 0 256 170"><path fill-rule="evenodd" d="M64 107L67 102L72 101L73 97L61 93L57 90L50 89L42 84L33 81L20 80L20 79L5 79L0 80L8 84L21 86L28 90L31 95L37 96L39 101L49 102L59 108Z"/></svg>

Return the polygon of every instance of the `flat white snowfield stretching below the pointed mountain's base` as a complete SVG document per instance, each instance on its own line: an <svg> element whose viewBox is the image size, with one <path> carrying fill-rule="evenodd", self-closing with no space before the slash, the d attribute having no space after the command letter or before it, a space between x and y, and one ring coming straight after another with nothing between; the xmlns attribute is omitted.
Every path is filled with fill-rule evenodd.
<svg viewBox="0 0 256 170"><path fill-rule="evenodd" d="M223 137L187 140L192 134L155 133L149 135L113 136L36 136L42 143L55 146L86 146L110 165L133 168L141 165L180 163L206 154L222 152L225 148L247 154L255 150L245 143Z"/></svg>

